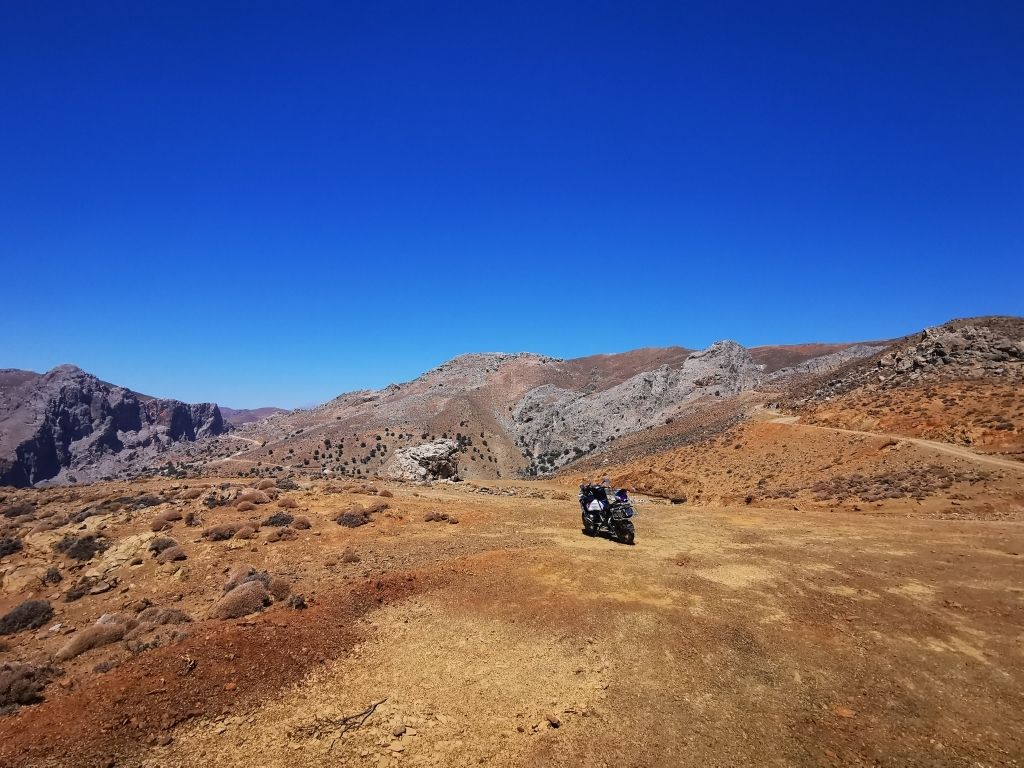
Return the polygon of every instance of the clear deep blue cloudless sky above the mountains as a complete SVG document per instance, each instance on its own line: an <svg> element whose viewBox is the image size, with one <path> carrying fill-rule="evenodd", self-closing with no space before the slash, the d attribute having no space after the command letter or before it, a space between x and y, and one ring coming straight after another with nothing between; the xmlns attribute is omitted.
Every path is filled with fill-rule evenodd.
<svg viewBox="0 0 1024 768"><path fill-rule="evenodd" d="M1024 314L1024 4L0 7L0 367L298 406L466 351Z"/></svg>

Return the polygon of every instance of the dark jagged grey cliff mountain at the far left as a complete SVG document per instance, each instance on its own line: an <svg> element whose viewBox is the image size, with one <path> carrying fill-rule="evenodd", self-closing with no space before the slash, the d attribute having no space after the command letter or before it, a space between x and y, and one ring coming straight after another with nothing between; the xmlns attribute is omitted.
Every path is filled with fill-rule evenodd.
<svg viewBox="0 0 1024 768"><path fill-rule="evenodd" d="M124 475L224 429L212 402L148 397L75 366L0 371L0 485Z"/></svg>

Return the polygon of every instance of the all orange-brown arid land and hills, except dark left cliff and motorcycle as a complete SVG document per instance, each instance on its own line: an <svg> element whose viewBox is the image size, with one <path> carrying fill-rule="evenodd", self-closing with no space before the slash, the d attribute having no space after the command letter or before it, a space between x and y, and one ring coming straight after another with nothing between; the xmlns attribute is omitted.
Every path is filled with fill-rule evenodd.
<svg viewBox="0 0 1024 768"><path fill-rule="evenodd" d="M0 765L1021 765L1020 328L461 360L0 488ZM631 428L543 477L496 416L596 402ZM324 471L376 434L414 476ZM602 477L634 546L581 531Z"/></svg>

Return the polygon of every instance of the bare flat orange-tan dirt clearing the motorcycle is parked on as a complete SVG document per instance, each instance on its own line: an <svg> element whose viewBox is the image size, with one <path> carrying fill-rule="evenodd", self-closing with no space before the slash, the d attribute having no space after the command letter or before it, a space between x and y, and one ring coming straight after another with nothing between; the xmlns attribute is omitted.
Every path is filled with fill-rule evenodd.
<svg viewBox="0 0 1024 768"><path fill-rule="evenodd" d="M0 762L905 766L1024 756L1019 524L641 504L637 545L625 547L583 537L572 501L432 489L415 503L462 523L410 516L386 536L368 530L361 551L402 569L354 593L316 571L310 610L203 624L186 648L54 691L0 721ZM187 677L184 655L198 662ZM225 682L237 689L225 693ZM381 699L346 735L327 724ZM170 744L146 745L162 717Z"/></svg>

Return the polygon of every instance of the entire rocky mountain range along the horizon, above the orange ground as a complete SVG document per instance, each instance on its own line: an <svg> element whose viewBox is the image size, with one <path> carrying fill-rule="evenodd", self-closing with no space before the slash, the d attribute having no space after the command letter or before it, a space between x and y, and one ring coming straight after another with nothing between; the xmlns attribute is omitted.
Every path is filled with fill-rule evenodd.
<svg viewBox="0 0 1024 768"><path fill-rule="evenodd" d="M483 480L596 467L707 439L764 404L799 408L965 366L1001 370L1019 354L1017 327L1004 321L863 344L471 353L287 412L158 400L73 367L2 371L0 483L134 476L168 462L187 472Z"/></svg>

